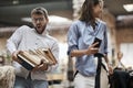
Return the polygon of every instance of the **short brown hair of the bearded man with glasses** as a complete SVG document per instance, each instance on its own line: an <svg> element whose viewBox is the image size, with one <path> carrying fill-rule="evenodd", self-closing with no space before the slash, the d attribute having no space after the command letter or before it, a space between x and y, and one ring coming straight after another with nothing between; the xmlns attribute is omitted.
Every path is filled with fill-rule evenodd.
<svg viewBox="0 0 133 88"><path fill-rule="evenodd" d="M44 8L42 8L42 7L38 7L38 8L33 9L31 11L31 15L32 14L43 14L44 18L48 19L48 11Z"/></svg>

